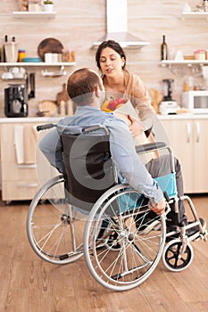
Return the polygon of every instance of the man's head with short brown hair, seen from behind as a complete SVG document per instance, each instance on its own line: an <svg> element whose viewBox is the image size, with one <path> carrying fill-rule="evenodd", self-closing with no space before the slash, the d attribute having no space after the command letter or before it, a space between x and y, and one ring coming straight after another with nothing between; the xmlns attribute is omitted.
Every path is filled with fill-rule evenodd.
<svg viewBox="0 0 208 312"><path fill-rule="evenodd" d="M67 83L67 92L72 101L79 106L93 105L95 102L102 103L104 92L102 79L96 71L82 68L74 71Z"/></svg>

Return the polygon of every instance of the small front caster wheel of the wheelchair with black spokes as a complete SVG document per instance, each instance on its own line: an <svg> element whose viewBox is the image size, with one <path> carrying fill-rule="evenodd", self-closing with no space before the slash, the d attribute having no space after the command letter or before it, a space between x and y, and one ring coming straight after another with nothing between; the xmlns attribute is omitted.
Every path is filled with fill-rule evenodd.
<svg viewBox="0 0 208 312"><path fill-rule="evenodd" d="M194 250L189 242L182 254L181 250L182 242L179 239L168 242L162 252L163 265L173 272L183 271L189 267L194 258Z"/></svg>

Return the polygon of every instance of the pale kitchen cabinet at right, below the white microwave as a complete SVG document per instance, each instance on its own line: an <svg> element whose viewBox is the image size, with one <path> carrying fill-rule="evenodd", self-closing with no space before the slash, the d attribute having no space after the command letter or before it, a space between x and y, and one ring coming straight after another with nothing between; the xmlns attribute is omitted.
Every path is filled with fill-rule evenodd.
<svg viewBox="0 0 208 312"><path fill-rule="evenodd" d="M208 117L162 119L161 122L181 164L185 193L207 193Z"/></svg>

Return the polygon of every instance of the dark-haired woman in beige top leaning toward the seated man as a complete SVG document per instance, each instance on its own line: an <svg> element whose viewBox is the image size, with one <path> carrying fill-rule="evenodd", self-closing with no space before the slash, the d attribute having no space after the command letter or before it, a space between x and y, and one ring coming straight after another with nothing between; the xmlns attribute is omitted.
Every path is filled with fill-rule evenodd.
<svg viewBox="0 0 208 312"><path fill-rule="evenodd" d="M139 119L154 119L154 108L143 81L135 74L126 70L126 55L117 42L104 41L96 51L96 65L102 72L104 89L107 99L111 97L129 98L137 111ZM140 131L139 131L140 127ZM144 131L144 128L131 119L129 127L133 135ZM137 132L137 134L136 134Z"/></svg>

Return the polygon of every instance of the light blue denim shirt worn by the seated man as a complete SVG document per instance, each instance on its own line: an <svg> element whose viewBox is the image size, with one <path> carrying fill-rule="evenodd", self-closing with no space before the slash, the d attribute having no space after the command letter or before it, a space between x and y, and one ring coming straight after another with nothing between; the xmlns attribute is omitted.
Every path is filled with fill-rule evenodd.
<svg viewBox="0 0 208 312"><path fill-rule="evenodd" d="M106 113L92 106L79 107L73 116L67 116L58 122L60 126L88 127L104 125L110 132L110 150L112 160L124 181L137 191L144 193L151 201L162 200L162 190L148 173L137 156L129 127L112 113ZM62 172L61 140L58 129L51 130L39 144L40 150L52 166Z"/></svg>

